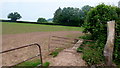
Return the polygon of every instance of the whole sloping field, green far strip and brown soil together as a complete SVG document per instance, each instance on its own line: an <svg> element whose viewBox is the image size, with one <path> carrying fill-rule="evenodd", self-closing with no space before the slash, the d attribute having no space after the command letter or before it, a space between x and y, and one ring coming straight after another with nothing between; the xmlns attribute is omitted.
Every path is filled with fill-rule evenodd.
<svg viewBox="0 0 120 68"><path fill-rule="evenodd" d="M38 43L42 48L42 56L45 59L48 57L48 43L50 43L50 36L77 38L83 35L81 32L82 30L83 28L81 27L2 22L2 50L4 51L26 44ZM60 44L51 45L53 46L51 48L66 48L72 46L71 44L68 46ZM18 63L36 55L37 51L37 47L29 47L6 53L3 55L3 65Z"/></svg>

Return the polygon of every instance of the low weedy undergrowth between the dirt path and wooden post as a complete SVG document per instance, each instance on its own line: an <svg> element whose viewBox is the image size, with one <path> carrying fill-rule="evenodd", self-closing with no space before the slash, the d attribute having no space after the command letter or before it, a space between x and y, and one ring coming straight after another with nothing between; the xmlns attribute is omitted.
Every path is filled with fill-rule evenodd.
<svg viewBox="0 0 120 68"><path fill-rule="evenodd" d="M87 34L82 37L82 39L90 40L91 35ZM83 59L88 65L101 64L104 62L103 52L101 49L96 47L96 41L84 41L82 46L80 46L81 52L83 53Z"/></svg>

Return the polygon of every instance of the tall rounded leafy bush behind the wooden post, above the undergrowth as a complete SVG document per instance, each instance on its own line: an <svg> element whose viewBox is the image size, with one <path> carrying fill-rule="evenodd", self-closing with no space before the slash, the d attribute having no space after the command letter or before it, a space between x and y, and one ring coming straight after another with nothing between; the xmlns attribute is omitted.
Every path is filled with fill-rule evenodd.
<svg viewBox="0 0 120 68"><path fill-rule="evenodd" d="M91 39L96 41L96 45L94 45L93 49L97 49L98 52L102 52L107 40L107 21L112 20L116 21L113 60L115 62L118 62L118 60L120 60L120 8L108 6L105 4L100 4L93 8L87 14L86 21L84 23L84 32L90 32L92 37ZM100 53L99 55L102 55L102 53ZM100 59L103 58L101 57ZM92 61L93 60L94 58L92 59Z"/></svg>

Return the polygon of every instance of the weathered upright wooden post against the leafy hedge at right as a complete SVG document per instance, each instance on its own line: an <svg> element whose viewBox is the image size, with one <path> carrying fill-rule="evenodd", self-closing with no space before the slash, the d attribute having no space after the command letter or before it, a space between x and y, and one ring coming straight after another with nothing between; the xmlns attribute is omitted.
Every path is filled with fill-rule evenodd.
<svg viewBox="0 0 120 68"><path fill-rule="evenodd" d="M115 21L109 21L107 22L107 42L104 48L105 63L107 66L112 65L114 37L115 37Z"/></svg>

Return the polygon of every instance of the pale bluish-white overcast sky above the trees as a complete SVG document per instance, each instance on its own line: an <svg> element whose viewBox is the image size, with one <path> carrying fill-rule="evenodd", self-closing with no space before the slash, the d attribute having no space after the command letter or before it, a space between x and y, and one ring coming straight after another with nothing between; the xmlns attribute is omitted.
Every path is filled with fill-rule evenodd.
<svg viewBox="0 0 120 68"><path fill-rule="evenodd" d="M18 12L20 20L37 21L39 17L52 18L59 7L96 6L100 3L118 5L120 0L0 0L0 19L7 19L11 12Z"/></svg>

